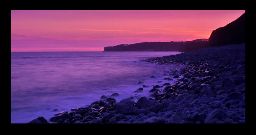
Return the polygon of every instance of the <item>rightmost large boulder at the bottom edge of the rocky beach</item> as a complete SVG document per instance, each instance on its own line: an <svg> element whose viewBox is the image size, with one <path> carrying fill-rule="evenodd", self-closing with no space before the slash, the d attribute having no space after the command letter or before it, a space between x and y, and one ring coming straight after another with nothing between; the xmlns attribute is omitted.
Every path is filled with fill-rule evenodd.
<svg viewBox="0 0 256 135"><path fill-rule="evenodd" d="M204 123L215 123L215 119L223 121L223 119L227 118L227 115L221 109L215 109L207 117L204 119Z"/></svg>

